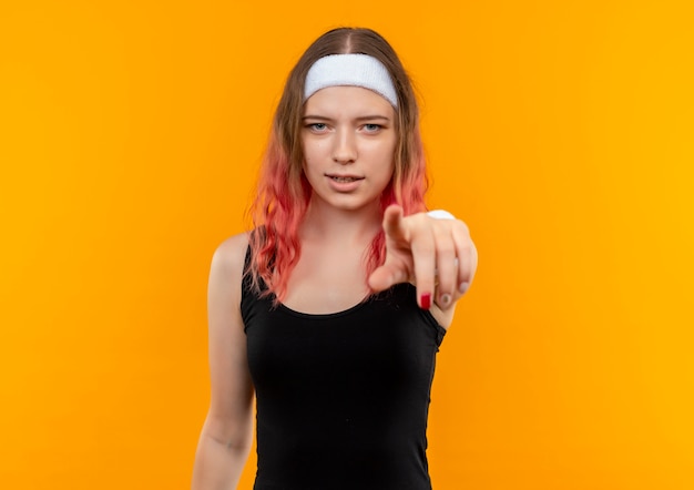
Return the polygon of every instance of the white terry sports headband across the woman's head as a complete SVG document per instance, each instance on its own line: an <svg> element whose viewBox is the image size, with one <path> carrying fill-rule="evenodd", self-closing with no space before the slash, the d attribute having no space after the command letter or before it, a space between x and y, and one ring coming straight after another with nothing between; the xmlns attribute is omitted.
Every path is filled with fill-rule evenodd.
<svg viewBox="0 0 694 490"><path fill-rule="evenodd" d="M363 86L382 95L394 108L398 95L384 63L368 54L330 54L316 61L306 74L304 100L327 86Z"/></svg>

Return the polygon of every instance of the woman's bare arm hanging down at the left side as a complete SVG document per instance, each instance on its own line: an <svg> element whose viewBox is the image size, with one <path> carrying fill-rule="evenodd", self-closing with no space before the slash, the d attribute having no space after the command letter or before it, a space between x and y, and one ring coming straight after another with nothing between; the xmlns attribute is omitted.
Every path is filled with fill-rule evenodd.
<svg viewBox="0 0 694 490"><path fill-rule="evenodd" d="M253 382L241 318L247 235L220 245L210 268L207 317L211 401L203 426L193 490L235 489L253 441Z"/></svg>

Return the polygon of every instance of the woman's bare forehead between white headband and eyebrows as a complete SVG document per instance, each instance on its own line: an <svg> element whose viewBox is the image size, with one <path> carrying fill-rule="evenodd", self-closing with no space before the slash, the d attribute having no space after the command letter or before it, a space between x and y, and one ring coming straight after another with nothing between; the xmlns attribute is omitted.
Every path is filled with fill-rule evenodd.
<svg viewBox="0 0 694 490"><path fill-rule="evenodd" d="M304 103L304 115L394 118L390 102L361 86L328 86L315 92Z"/></svg>

